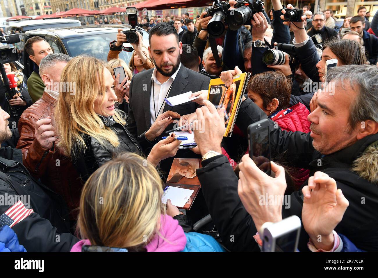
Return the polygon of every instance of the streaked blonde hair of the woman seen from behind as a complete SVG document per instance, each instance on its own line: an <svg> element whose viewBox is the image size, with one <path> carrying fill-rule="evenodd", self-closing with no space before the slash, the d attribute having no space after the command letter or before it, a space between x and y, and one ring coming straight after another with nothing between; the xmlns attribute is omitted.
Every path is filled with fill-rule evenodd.
<svg viewBox="0 0 378 278"><path fill-rule="evenodd" d="M92 245L141 251L155 235L163 183L155 167L135 153L121 153L85 183L77 231Z"/></svg>

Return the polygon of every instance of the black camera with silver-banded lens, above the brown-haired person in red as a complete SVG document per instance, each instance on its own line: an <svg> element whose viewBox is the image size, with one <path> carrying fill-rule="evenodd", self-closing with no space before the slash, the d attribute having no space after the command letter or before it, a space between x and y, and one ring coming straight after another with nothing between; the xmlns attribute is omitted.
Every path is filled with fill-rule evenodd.
<svg viewBox="0 0 378 278"><path fill-rule="evenodd" d="M265 65L283 65L286 62L285 54L289 55L289 65L291 71L294 72L295 68L299 65L294 45L278 43L273 49L268 49L262 54L262 61Z"/></svg>

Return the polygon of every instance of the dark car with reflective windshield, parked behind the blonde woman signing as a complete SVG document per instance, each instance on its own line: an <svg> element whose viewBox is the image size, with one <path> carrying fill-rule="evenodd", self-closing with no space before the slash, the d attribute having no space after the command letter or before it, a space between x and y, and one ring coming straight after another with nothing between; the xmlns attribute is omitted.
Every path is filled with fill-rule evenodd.
<svg viewBox="0 0 378 278"><path fill-rule="evenodd" d="M33 36L44 38L53 49L54 53L65 53L71 57L80 54L95 56L104 61L107 60L109 43L116 40L118 28L130 29L130 25L87 25L70 28L39 29L27 31L25 37L20 34L20 43L16 44L19 53L19 62L25 66L23 73L30 76L33 72L34 63L29 59L29 55L23 51L26 40ZM149 33L143 31L143 44L149 46ZM125 47L130 47L130 43L124 43ZM132 52L122 51L119 58L127 64L130 62Z"/></svg>

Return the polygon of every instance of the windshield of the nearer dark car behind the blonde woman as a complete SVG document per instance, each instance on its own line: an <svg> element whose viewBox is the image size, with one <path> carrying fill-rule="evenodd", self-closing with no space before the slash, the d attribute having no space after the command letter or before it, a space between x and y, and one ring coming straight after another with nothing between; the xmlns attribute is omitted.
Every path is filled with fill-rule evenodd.
<svg viewBox="0 0 378 278"><path fill-rule="evenodd" d="M95 34L90 36L74 37L70 39L62 39L68 51L68 55L75 57L80 54L88 54L95 56L98 59L107 61L109 52L109 43L116 40L117 33L109 34ZM143 32L143 44L148 46L147 32ZM125 47L131 46L129 43L124 43ZM121 51L119 58L124 60L127 64L131 59L132 52Z"/></svg>

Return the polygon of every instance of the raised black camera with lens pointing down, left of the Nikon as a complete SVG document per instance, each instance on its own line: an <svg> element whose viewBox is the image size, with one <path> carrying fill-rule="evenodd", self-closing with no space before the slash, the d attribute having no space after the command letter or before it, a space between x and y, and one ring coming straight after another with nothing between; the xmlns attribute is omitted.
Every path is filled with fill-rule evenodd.
<svg viewBox="0 0 378 278"><path fill-rule="evenodd" d="M208 33L213 37L218 38L225 32L225 19L230 7L229 3L217 0L211 8L205 10L207 13L204 17L212 16L208 23Z"/></svg>

